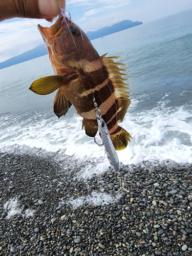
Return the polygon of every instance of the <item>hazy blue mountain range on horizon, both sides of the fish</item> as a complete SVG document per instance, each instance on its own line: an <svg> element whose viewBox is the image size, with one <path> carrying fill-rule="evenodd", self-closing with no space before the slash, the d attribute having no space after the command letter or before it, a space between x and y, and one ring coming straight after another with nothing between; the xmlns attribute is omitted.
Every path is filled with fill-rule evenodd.
<svg viewBox="0 0 192 256"><path fill-rule="evenodd" d="M104 27L102 29L98 29L97 31L87 32L87 36L89 37L90 40L93 40L105 35L116 33L124 29L138 26L140 24L142 24L142 22L132 22L131 20L123 20L122 22L118 24L114 24L111 27ZM9 66L13 66L20 62L24 62L30 59L38 58L46 54L48 53L47 53L47 48L45 47L45 44L40 44L30 51L24 52L20 55L7 59L6 61L0 62L0 69L4 69Z"/></svg>

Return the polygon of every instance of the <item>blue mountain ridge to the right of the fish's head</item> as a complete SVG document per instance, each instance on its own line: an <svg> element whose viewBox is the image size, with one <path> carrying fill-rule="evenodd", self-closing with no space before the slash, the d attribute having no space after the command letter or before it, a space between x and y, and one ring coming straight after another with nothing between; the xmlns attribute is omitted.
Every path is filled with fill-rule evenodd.
<svg viewBox="0 0 192 256"><path fill-rule="evenodd" d="M94 32L87 32L87 36L89 37L90 40L105 36L105 35L110 35L113 33L116 33L118 31L124 30L124 29L129 29L138 25L143 24L142 22L132 22L131 20L123 20L122 22L118 24L114 24L111 27L104 27L102 29L98 29L97 31Z"/></svg>

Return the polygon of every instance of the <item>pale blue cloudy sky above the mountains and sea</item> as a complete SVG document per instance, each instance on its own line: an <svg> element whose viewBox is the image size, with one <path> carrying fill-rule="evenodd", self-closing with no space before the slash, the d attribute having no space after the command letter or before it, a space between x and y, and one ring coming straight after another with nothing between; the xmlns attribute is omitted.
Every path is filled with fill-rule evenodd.
<svg viewBox="0 0 192 256"><path fill-rule="evenodd" d="M66 0L66 10L84 32L125 19L144 24L189 9L192 0ZM37 24L51 26L44 19L15 18L0 23L0 62L42 44Z"/></svg>

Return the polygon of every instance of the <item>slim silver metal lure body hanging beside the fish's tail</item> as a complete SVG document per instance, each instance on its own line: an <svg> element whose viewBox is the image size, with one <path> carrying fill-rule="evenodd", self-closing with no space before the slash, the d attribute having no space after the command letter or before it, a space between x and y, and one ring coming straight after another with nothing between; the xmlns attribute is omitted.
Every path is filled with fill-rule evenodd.
<svg viewBox="0 0 192 256"><path fill-rule="evenodd" d="M117 152L112 143L110 133L108 131L108 127L106 126L105 121L100 117L97 118L98 122L98 132L102 139L103 145L105 147L106 155L108 156L108 160L113 168L118 172L119 171L119 159L117 156Z"/></svg>

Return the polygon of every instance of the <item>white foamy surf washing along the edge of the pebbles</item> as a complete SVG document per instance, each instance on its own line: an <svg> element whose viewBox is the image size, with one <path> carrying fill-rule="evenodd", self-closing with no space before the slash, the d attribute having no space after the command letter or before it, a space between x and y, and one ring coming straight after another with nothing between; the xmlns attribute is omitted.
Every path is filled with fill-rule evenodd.
<svg viewBox="0 0 192 256"><path fill-rule="evenodd" d="M130 106L120 125L133 139L124 150L117 151L120 164L167 159L183 164L192 163L192 110L188 106L166 108L165 101L159 102L157 108L140 112L134 110L137 100ZM2 116L1 151L15 144L50 152L62 150L63 154L75 156L79 161L93 160L93 165L87 166L82 177L99 174L110 164L104 156L104 147L96 145L94 139L81 130L81 120L73 112L67 118L57 119L53 113L45 110L30 114L30 117L26 114Z"/></svg>

